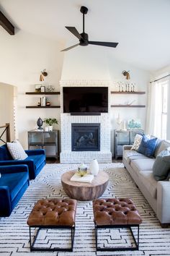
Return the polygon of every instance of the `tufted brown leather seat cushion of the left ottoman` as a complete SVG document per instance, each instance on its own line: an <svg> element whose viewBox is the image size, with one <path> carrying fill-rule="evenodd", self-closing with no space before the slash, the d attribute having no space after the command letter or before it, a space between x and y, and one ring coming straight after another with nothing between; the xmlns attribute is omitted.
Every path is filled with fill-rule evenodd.
<svg viewBox="0 0 170 256"><path fill-rule="evenodd" d="M73 226L76 215L74 199L37 201L27 220L29 226Z"/></svg>

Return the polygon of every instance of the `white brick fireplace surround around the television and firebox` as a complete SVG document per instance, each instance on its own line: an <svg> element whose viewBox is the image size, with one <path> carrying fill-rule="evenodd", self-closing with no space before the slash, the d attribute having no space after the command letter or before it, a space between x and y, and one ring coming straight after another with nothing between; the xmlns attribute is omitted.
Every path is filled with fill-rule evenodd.
<svg viewBox="0 0 170 256"><path fill-rule="evenodd" d="M61 81L61 111L63 109L63 86L107 86L107 81ZM108 103L109 106L109 103ZM100 124L100 150L99 151L72 151L71 150L71 124ZM89 163L93 159L99 163L111 163L110 150L110 119L109 113L99 116L73 116L61 113L61 163Z"/></svg>

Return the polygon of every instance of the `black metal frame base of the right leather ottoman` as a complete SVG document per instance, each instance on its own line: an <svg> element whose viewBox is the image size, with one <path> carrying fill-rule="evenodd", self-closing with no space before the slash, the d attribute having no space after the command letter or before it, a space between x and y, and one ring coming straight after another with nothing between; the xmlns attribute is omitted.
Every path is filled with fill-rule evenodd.
<svg viewBox="0 0 170 256"><path fill-rule="evenodd" d="M131 229L132 227L137 227L138 228L138 238L135 239L135 236L133 234L133 230ZM133 240L135 242L135 247L98 247L98 234L97 231L98 229L120 229L120 228L125 228L125 229L130 229L130 232L133 236ZM129 250L138 250L139 249L139 225L138 224L130 224L130 225L97 225L94 222L94 229L95 229L95 239L96 239L96 249L97 251L129 251Z"/></svg>

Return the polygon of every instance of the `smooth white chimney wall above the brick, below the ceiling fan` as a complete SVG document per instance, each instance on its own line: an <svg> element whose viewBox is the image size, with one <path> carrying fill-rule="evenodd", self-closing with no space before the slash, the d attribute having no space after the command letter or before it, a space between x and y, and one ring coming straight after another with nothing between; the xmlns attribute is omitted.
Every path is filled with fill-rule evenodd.
<svg viewBox="0 0 170 256"><path fill-rule="evenodd" d="M109 80L107 51L100 50L99 46L78 46L66 51L61 80Z"/></svg>

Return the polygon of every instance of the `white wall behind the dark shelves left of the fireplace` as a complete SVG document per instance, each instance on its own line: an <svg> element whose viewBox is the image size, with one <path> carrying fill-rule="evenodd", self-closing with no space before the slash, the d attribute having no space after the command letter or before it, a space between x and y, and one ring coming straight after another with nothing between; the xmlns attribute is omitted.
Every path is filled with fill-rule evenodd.
<svg viewBox="0 0 170 256"><path fill-rule="evenodd" d="M27 148L27 131L37 127L36 121L56 117L60 119L60 108L26 109L27 105L36 105L39 96L25 95L27 91L34 91L35 84L40 84L40 71L47 69L44 85L53 85L59 90L63 54L63 46L56 41L48 40L37 35L17 31L16 35L9 35L0 27L0 82L17 86L17 128L18 137L24 148ZM59 104L59 96L51 96L51 100ZM53 98L53 99L52 99ZM4 106L2 106L5 111Z"/></svg>

